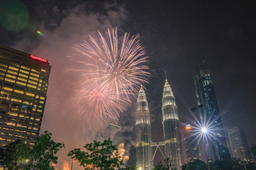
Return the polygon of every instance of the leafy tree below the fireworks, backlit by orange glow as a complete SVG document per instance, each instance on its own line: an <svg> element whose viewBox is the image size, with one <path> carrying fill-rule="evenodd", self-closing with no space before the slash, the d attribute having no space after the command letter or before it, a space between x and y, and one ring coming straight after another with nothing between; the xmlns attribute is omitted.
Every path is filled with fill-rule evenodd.
<svg viewBox="0 0 256 170"><path fill-rule="evenodd" d="M112 145L110 138L102 143L93 141L84 147L86 152L73 149L68 156L77 159L85 169L117 169L123 164L117 156L117 147Z"/></svg>

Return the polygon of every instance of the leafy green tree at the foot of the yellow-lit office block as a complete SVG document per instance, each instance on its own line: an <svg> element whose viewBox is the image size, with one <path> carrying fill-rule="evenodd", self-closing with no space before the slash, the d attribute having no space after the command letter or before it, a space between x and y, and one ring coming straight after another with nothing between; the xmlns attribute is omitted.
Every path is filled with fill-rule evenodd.
<svg viewBox="0 0 256 170"><path fill-rule="evenodd" d="M0 149L1 164L11 170L54 170L50 164L57 164L58 157L55 157L55 154L65 145L54 142L51 135L48 131L44 132L36 139L36 144L33 147L24 144L21 140L11 142Z"/></svg>

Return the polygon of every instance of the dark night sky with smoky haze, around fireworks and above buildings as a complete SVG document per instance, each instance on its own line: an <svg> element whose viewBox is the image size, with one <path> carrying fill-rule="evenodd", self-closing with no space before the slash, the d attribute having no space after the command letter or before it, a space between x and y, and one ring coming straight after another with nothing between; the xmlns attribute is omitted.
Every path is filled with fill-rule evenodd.
<svg viewBox="0 0 256 170"><path fill-rule="evenodd" d="M86 120L80 120L75 110L65 108L64 111L61 107L65 99L70 105L76 102L66 90L72 86L65 84L77 77L65 72L71 67L65 56L88 34L116 26L121 34L128 31L137 35L151 57L151 77L144 86L153 142L163 140L164 72L174 91L179 117L188 123L190 110L196 106L193 69L206 57L225 131L234 126L245 128L251 145L256 143L255 5L255 1L8 0L7 3L2 0L0 44L49 60L52 70L41 132L49 130L54 140L65 142L67 149L61 155L93 140L91 132L78 123ZM7 26L6 16L11 18ZM41 30L46 37L38 35L36 30ZM128 109L120 118L130 131L134 123L131 112ZM119 133L122 132L125 130ZM68 166L65 159L60 157L63 166L59 169Z"/></svg>

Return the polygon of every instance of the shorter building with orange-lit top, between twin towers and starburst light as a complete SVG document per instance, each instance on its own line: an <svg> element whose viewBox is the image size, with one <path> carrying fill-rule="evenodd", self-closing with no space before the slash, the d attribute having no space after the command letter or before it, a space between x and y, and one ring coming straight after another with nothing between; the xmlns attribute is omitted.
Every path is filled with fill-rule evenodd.
<svg viewBox="0 0 256 170"><path fill-rule="evenodd" d="M193 135L191 125L186 125L184 130L184 141L186 146L186 157L188 162L194 162L196 159L201 159L199 142Z"/></svg>

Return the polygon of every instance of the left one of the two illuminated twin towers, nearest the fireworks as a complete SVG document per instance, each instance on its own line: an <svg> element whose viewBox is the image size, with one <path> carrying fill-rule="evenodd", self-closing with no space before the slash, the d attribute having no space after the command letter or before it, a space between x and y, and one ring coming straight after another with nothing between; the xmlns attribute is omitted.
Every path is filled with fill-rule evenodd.
<svg viewBox="0 0 256 170"><path fill-rule="evenodd" d="M149 106L146 101L146 94L143 88L139 90L137 98L137 114L136 114L136 165L137 169L152 169L153 164L151 143L151 125L149 116Z"/></svg>

